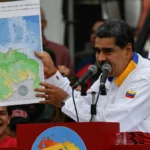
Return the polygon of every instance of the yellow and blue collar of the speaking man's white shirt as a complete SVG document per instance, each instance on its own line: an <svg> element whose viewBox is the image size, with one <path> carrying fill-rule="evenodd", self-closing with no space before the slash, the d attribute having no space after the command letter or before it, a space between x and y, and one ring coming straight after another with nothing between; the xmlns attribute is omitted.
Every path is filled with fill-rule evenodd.
<svg viewBox="0 0 150 150"><path fill-rule="evenodd" d="M129 62L128 66L121 73L121 75L118 78L109 77L108 80L110 82L114 81L116 85L120 86L122 82L125 80L125 78L136 68L137 64L138 64L138 54L134 52L132 60Z"/></svg>

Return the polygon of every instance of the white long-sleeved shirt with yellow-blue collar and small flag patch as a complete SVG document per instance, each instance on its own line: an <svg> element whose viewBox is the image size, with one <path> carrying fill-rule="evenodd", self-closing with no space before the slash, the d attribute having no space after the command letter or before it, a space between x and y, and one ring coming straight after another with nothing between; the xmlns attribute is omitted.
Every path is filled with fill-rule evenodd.
<svg viewBox="0 0 150 150"><path fill-rule="evenodd" d="M62 111L76 119L72 100L72 88L66 77L59 72L47 79L71 96L65 101ZM79 120L89 122L91 118L91 92L99 91L100 78L87 91L87 96L81 96L74 91ZM97 103L95 122L119 122L120 131L150 132L150 60L134 54L133 59L118 77L106 82L107 95L100 95Z"/></svg>

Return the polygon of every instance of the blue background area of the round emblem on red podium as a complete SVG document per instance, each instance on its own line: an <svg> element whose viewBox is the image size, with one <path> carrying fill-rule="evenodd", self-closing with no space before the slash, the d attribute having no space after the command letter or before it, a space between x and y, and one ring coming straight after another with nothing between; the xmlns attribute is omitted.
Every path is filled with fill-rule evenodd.
<svg viewBox="0 0 150 150"><path fill-rule="evenodd" d="M33 143L32 150L39 150L38 145L41 140L47 137L54 142L64 143L67 141L79 147L80 150L86 150L85 144L81 137L72 129L63 126L55 126L42 132Z"/></svg>

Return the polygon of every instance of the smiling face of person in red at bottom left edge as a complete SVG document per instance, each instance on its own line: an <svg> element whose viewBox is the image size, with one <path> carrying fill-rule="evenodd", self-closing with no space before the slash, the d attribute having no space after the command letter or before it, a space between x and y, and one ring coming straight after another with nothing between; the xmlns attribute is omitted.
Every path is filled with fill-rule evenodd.
<svg viewBox="0 0 150 150"><path fill-rule="evenodd" d="M0 137L6 134L10 117L8 116L7 107L0 106Z"/></svg>

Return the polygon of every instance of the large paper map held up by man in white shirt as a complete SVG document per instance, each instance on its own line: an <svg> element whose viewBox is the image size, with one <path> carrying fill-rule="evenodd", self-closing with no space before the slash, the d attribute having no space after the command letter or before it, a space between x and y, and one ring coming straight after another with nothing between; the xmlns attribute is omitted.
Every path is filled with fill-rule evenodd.
<svg viewBox="0 0 150 150"><path fill-rule="evenodd" d="M44 81L43 63L34 53L43 53L39 4L39 0L1 3L0 106L44 100L34 91Z"/></svg>

